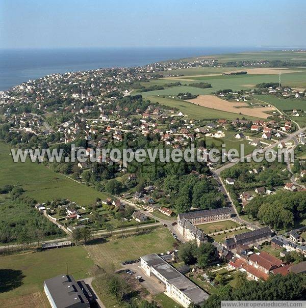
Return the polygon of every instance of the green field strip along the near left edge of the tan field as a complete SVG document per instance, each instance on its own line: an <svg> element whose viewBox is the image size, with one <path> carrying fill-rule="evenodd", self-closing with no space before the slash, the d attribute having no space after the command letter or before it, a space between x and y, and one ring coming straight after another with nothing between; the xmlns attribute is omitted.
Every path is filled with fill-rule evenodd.
<svg viewBox="0 0 306 308"><path fill-rule="evenodd" d="M178 87L173 87L173 88L178 88ZM169 89L173 89L173 88L169 88ZM185 87L188 88L188 87ZM190 88L190 87L189 87ZM196 89L196 88L193 88ZM201 90L201 89L200 89ZM160 91L164 91L164 90L160 90ZM155 92L155 91L152 91ZM158 92L158 91L156 91ZM215 110L215 109L211 109L211 108L206 108L206 107L202 107L202 106L198 106L196 104L190 103L190 102L186 102L183 100L178 100L172 97L162 97L162 96L146 96L147 93L151 93L151 92L144 92L142 93L144 98L149 99L151 102L159 102L162 105L165 106L169 106L171 108L176 107L179 108L180 111L182 111L182 113L184 115L188 115L190 117L190 119L207 119L207 120L212 120L212 119L227 119L227 120L235 120L237 118L246 118L246 119L250 119L250 120L258 120L258 118L254 118L254 117L248 117L248 116L242 116L239 114L233 114L233 113L227 113L225 111L220 111L220 110Z"/></svg>

